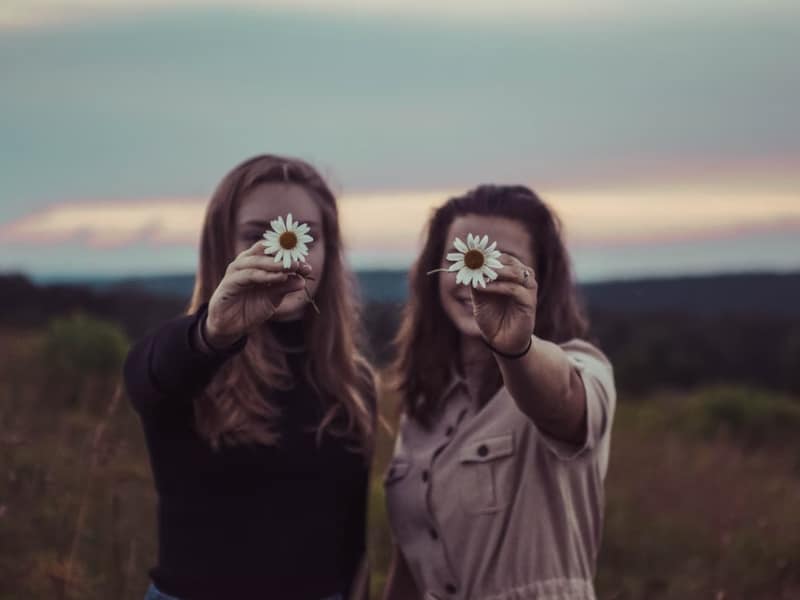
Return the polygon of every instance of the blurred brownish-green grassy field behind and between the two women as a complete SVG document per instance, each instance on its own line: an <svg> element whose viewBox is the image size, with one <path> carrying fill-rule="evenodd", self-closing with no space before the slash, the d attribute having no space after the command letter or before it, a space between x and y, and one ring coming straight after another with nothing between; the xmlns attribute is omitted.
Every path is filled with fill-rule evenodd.
<svg viewBox="0 0 800 600"><path fill-rule="evenodd" d="M140 599L155 497L115 394L127 340L72 318L0 336L0 600ZM396 398L383 393L391 420ZM622 396L606 483L603 599L800 598L800 399L715 385ZM391 545L378 444L373 596Z"/></svg>

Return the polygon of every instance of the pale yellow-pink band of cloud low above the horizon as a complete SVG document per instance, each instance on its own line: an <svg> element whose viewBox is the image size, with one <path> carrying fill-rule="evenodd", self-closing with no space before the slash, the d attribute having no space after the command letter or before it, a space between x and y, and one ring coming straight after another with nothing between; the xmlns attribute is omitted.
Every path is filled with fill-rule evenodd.
<svg viewBox="0 0 800 600"><path fill-rule="evenodd" d="M403 252L419 247L432 210L453 191L347 194L340 199L344 239L354 252ZM800 233L800 194L754 190L554 190L543 194L576 248L641 246L754 234ZM6 243L87 248L197 245L206 200L149 198L53 205L0 228Z"/></svg>

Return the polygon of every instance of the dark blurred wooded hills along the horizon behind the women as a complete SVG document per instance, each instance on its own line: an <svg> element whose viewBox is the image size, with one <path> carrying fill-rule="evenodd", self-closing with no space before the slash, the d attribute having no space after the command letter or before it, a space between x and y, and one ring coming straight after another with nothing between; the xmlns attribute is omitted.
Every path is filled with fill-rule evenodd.
<svg viewBox="0 0 800 600"><path fill-rule="evenodd" d="M360 277L369 350L384 365L402 307L387 299L396 291L387 295L386 284L405 281L380 273ZM373 286L383 297L370 300ZM23 275L0 276L0 325L33 328L80 311L119 323L135 339L187 305L187 296L152 289L132 282L40 286ZM800 393L800 274L608 282L582 293L592 336L623 391L740 382Z"/></svg>

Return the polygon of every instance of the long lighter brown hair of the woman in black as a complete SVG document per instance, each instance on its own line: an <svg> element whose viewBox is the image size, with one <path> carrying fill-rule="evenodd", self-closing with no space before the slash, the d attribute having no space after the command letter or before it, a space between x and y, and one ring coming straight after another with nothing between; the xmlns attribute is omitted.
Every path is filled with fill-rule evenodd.
<svg viewBox="0 0 800 600"><path fill-rule="evenodd" d="M309 383L325 403L317 429L354 438L365 453L374 434L374 373L360 348L360 306L357 285L346 268L336 199L320 174L308 163L276 155L253 157L228 173L214 191L206 209L194 293L187 313L211 299L235 258L236 215L242 197L264 183L302 186L322 213L325 265L315 301L320 314L307 310L303 330L308 348L304 365ZM195 399L198 432L213 447L226 443L276 444L279 409L269 402L269 391L292 385L286 355L267 326L248 335L244 349L227 361L204 392ZM265 398L266 394L266 398Z"/></svg>

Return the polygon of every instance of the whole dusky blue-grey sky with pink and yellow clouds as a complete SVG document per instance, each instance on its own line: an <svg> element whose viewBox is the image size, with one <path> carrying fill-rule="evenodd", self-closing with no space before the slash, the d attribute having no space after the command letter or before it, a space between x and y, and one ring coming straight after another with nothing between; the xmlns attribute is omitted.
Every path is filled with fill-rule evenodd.
<svg viewBox="0 0 800 600"><path fill-rule="evenodd" d="M357 268L492 182L583 280L800 269L796 56L781 0L4 0L0 271L192 271L262 152L320 168Z"/></svg>

